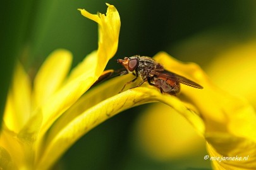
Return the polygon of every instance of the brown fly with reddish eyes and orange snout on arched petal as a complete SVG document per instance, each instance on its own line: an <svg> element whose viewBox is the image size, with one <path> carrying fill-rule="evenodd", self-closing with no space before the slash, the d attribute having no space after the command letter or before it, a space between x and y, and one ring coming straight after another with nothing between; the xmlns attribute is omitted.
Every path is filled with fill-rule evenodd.
<svg viewBox="0 0 256 170"><path fill-rule="evenodd" d="M171 95L180 92L180 83L193 88L203 89L203 87L196 82L173 72L166 71L162 64L155 62L155 60L150 57L135 55L133 57L125 57L125 59L118 59L117 61L126 69L126 72L123 72L121 75L132 73L136 76L135 79L126 82L121 91L123 91L127 84L135 82L138 77L142 79L142 82L134 88L141 86L143 82L147 81L151 86L159 88L161 93Z"/></svg>

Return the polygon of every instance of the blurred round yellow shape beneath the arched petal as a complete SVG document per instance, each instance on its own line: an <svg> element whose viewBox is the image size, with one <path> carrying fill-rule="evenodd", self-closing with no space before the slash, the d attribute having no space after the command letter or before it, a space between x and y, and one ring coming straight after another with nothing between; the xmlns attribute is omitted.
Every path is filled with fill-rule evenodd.
<svg viewBox="0 0 256 170"><path fill-rule="evenodd" d="M191 166L190 157L206 154L204 138L183 116L162 103L147 106L138 116L134 138L145 154L161 162L178 159Z"/></svg>

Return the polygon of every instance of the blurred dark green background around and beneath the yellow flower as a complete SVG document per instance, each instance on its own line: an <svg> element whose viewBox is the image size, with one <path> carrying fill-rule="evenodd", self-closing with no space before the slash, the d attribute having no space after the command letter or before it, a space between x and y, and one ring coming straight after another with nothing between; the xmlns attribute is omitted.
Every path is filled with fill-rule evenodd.
<svg viewBox="0 0 256 170"><path fill-rule="evenodd" d="M136 54L154 56L164 50L177 59L197 62L205 68L217 53L256 36L253 0L4 2L0 27L1 113L15 60L21 60L33 76L49 53L66 48L73 53L74 67L97 49L97 24L84 18L77 8L106 13L105 3L116 6L121 17L114 59ZM120 67L114 59L107 68ZM186 162L177 160L157 161L138 149L134 125L148 106L132 108L94 128L66 152L55 168L197 169L190 165L191 158L186 166ZM203 157L198 160L202 169L210 169L210 162Z"/></svg>

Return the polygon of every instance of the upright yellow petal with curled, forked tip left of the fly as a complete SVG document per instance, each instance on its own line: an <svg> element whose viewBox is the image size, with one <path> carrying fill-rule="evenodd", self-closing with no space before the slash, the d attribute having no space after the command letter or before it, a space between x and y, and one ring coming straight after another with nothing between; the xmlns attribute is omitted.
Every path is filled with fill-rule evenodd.
<svg viewBox="0 0 256 170"><path fill-rule="evenodd" d="M82 10L83 11L83 10ZM88 14L92 19L92 14ZM100 42L97 53L92 52L72 71L70 79L66 81L63 88L59 89L42 106L44 120L42 123L42 135L64 111L82 96L85 91L97 80L106 67L107 61L113 57L118 44L120 23L118 11L109 5L107 15L99 14L101 20L99 25ZM112 30L112 31L110 31ZM111 45L109 45L111 44Z"/></svg>

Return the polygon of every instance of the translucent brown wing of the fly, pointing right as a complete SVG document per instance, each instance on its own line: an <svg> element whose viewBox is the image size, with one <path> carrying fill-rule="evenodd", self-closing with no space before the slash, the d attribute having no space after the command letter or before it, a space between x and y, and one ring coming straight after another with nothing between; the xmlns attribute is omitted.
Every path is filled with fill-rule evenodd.
<svg viewBox="0 0 256 170"><path fill-rule="evenodd" d="M193 88L197 88L197 89L203 89L202 86L200 86L199 84L197 84L196 82L193 82L183 76L180 76L178 74L175 74L174 72L169 72L169 71L151 71L151 74L157 75L157 76L161 76L161 77L166 77L167 79L171 79L173 81L177 81L180 82L182 84L185 84L187 86L191 86Z"/></svg>

